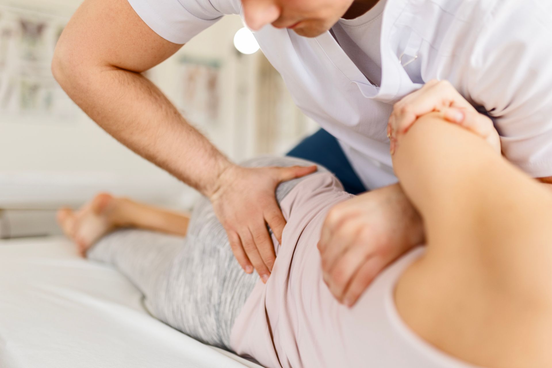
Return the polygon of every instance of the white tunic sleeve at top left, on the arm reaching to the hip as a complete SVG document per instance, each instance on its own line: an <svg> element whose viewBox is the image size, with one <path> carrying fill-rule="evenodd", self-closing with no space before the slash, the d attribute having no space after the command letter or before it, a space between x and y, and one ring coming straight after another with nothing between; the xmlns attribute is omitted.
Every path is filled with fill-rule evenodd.
<svg viewBox="0 0 552 368"><path fill-rule="evenodd" d="M128 0L142 20L167 41L185 44L224 14L237 14L236 0ZM240 0L237 0L240 3ZM220 3L220 4L218 4ZM214 4L217 5L215 8ZM220 5L220 6L219 6Z"/></svg>

